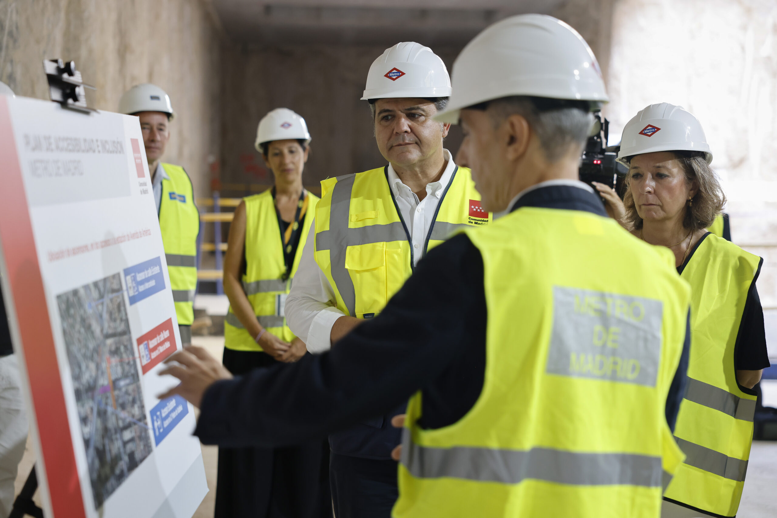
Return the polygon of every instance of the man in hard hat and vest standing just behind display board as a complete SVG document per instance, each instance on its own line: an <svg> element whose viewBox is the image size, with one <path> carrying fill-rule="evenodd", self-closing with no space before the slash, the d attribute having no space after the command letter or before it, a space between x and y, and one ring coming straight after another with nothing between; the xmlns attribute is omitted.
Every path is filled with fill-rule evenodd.
<svg viewBox="0 0 777 518"><path fill-rule="evenodd" d="M169 124L175 113L170 98L157 85L135 85L119 101L120 113L140 119L154 190L167 270L176 304L176 316L183 345L191 343L194 322L194 292L197 290L197 234L200 213L194 204L191 179L183 167L162 162L170 140Z"/></svg>

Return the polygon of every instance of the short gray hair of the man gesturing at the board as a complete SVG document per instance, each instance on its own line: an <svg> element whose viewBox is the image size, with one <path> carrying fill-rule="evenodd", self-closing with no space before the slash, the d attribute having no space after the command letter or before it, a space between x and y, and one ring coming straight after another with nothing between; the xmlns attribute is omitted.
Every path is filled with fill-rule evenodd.
<svg viewBox="0 0 777 518"><path fill-rule="evenodd" d="M563 158L573 145L582 148L594 123L588 103L581 101L510 96L472 107L488 111L494 127L510 115L524 117L537 135L549 162Z"/></svg>

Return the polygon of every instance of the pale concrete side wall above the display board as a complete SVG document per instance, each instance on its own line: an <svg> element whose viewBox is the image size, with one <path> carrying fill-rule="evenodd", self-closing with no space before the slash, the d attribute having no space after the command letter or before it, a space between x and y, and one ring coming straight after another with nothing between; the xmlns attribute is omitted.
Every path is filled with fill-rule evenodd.
<svg viewBox="0 0 777 518"><path fill-rule="evenodd" d="M176 119L164 160L208 192L218 157L218 22L207 0L0 0L0 80L19 96L48 99L42 61L75 61L89 106L115 111L125 90L153 82Z"/></svg>

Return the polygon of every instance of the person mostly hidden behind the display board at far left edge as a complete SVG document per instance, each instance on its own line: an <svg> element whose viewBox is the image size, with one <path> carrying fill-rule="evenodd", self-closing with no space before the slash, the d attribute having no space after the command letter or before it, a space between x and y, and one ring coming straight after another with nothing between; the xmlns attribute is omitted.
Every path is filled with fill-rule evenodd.
<svg viewBox="0 0 777 518"><path fill-rule="evenodd" d="M0 95L16 97L4 82L0 82ZM5 302L0 292L0 518L11 513L14 483L26 443L27 415L19 363L13 353Z"/></svg>

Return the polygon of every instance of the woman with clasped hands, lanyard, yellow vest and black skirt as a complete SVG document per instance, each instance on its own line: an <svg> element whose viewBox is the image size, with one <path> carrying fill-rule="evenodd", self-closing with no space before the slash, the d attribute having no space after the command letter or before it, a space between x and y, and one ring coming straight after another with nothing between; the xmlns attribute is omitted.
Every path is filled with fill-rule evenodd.
<svg viewBox="0 0 777 518"><path fill-rule="evenodd" d="M244 198L229 228L223 362L235 375L294 362L307 352L286 325L284 304L319 200L302 187L310 140L305 120L286 108L272 110L259 123L256 149L275 183ZM329 447L322 440L220 448L215 517L331 516L328 466Z"/></svg>

